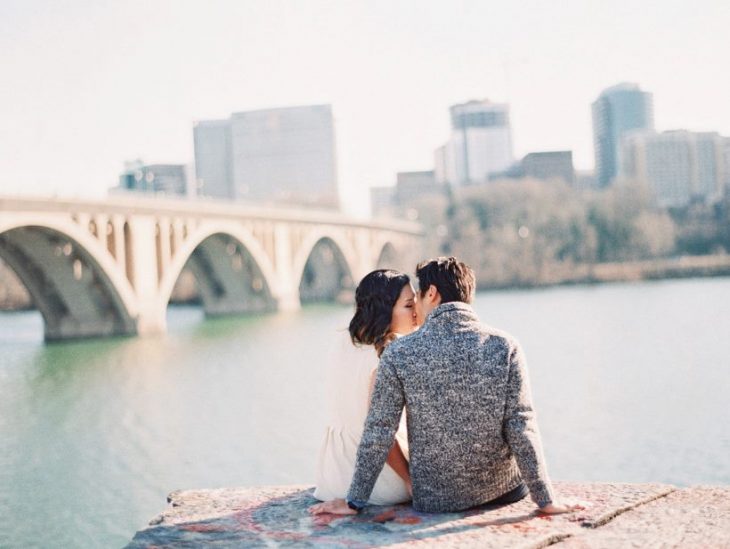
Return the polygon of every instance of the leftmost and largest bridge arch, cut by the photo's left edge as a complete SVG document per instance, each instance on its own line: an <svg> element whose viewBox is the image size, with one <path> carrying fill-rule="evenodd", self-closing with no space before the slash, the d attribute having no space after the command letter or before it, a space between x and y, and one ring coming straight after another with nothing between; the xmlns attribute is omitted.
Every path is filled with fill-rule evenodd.
<svg viewBox="0 0 730 549"><path fill-rule="evenodd" d="M47 340L136 333L129 282L105 246L78 225L0 224L0 256L32 296Z"/></svg>

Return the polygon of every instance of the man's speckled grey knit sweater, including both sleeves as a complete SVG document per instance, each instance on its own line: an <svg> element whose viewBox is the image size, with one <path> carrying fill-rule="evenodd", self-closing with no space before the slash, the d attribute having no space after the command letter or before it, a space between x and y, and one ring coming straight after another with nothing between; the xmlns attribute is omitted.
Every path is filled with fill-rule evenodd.
<svg viewBox="0 0 730 549"><path fill-rule="evenodd" d="M367 501L406 407L413 507L458 511L524 480L553 500L525 360L466 303L444 303L383 352L357 451L350 501Z"/></svg>

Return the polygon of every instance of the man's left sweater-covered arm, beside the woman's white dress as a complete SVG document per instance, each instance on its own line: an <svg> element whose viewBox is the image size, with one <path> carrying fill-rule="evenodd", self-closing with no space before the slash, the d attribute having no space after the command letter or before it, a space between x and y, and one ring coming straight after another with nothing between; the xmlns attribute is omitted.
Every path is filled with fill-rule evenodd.
<svg viewBox="0 0 730 549"><path fill-rule="evenodd" d="M370 399L365 429L357 448L355 473L347 493L348 501L363 505L370 497L393 446L405 403L403 385L388 360L387 351L383 354Z"/></svg>

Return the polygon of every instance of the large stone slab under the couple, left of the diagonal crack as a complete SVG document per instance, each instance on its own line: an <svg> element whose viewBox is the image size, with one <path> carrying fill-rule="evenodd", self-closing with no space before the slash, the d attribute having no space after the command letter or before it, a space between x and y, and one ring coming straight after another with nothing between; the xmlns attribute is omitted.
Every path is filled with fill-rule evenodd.
<svg viewBox="0 0 730 549"><path fill-rule="evenodd" d="M312 517L316 500L303 486L174 492L170 507L135 535L129 549L151 547L546 547L663 498L663 484L556 483L565 498L591 502L586 511L538 515L529 499L504 507L425 514L407 505L369 507L354 517ZM595 531L595 530L592 530Z"/></svg>

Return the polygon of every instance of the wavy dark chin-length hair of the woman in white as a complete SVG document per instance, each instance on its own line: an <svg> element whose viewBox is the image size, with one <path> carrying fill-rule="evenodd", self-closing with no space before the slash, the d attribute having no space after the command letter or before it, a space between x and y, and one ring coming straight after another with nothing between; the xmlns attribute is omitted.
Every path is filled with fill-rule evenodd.
<svg viewBox="0 0 730 549"><path fill-rule="evenodd" d="M355 290L355 314L350 321L350 338L357 345L373 345L380 356L395 334L390 332L393 307L408 275L392 269L378 269L365 275Z"/></svg>

